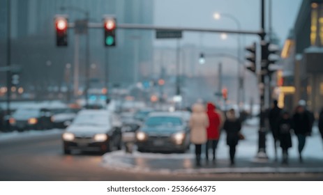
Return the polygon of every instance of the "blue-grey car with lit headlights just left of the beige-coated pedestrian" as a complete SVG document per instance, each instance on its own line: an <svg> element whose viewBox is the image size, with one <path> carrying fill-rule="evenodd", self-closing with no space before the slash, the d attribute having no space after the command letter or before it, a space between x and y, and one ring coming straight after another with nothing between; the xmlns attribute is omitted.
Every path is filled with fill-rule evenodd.
<svg viewBox="0 0 323 195"><path fill-rule="evenodd" d="M137 150L185 153L190 147L189 137L188 123L181 114L153 112L136 132Z"/></svg>

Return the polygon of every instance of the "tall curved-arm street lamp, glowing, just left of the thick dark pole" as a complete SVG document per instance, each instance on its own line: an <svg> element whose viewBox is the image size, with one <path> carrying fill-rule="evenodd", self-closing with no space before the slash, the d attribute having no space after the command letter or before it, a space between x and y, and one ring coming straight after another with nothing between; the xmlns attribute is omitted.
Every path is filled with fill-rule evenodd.
<svg viewBox="0 0 323 195"><path fill-rule="evenodd" d="M213 14L213 18L215 20L220 20L221 17L227 17L229 18L230 20L233 20L235 23L236 23L236 27L238 28L239 31L241 31L241 23L239 22L238 19L236 19L236 17L234 17L233 15L230 15L230 14L227 14L227 13L214 13ZM226 39L227 38L227 35L225 33L222 33L221 34L221 38L222 39ZM241 59L241 36L238 35L237 36L237 57L238 59ZM239 65L239 62L238 62L238 93L236 94L236 103L238 104L239 106L239 102L241 101L240 99L240 93L244 93L243 92L243 77L241 76L241 73L240 73L240 65ZM243 69L244 71L244 69ZM244 94L242 94L242 97L243 97L243 101L244 101Z"/></svg>

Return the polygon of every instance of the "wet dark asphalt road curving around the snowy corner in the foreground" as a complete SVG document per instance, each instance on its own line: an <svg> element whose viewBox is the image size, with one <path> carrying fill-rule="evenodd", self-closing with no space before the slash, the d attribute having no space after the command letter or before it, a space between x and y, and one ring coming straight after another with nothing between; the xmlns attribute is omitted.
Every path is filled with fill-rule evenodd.
<svg viewBox="0 0 323 195"><path fill-rule="evenodd" d="M322 174L130 173L102 166L100 155L63 155L60 134L0 141L0 180L323 180Z"/></svg>

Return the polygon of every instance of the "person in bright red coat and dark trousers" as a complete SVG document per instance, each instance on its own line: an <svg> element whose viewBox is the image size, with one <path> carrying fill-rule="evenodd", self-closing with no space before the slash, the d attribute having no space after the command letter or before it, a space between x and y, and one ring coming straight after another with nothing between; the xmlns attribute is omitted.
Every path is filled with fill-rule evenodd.
<svg viewBox="0 0 323 195"><path fill-rule="evenodd" d="M207 116L209 117L209 127L207 127L207 141L206 141L206 162L209 161L209 148L212 147L213 163L216 162L216 146L218 146L218 139L220 137L220 115L216 112L216 106L207 103Z"/></svg>

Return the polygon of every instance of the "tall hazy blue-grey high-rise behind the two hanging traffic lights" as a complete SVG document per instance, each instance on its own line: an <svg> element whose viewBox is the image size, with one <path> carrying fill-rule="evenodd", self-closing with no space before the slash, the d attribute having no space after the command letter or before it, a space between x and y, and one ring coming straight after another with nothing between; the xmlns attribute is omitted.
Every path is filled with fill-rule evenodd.
<svg viewBox="0 0 323 195"><path fill-rule="evenodd" d="M6 0L0 0L1 42L6 42ZM55 46L54 15L66 14L69 22L82 20L89 13L90 22L102 22L103 15L114 15L117 23L152 24L151 0L11 0L11 38L13 63L22 65L22 83L33 85L43 79L61 85L66 63L74 64L75 34L68 30L68 47ZM63 8L63 9L62 9ZM153 32L117 29L117 46L104 47L103 29L89 29L90 64L98 68L102 83L108 65L110 83L130 84L148 77L152 63ZM1 44L2 45L2 44ZM2 48L1 48L2 49ZM80 36L80 86L85 77L85 36ZM50 61L51 70L46 62ZM42 72L50 72L47 78ZM35 86L36 87L36 86Z"/></svg>

